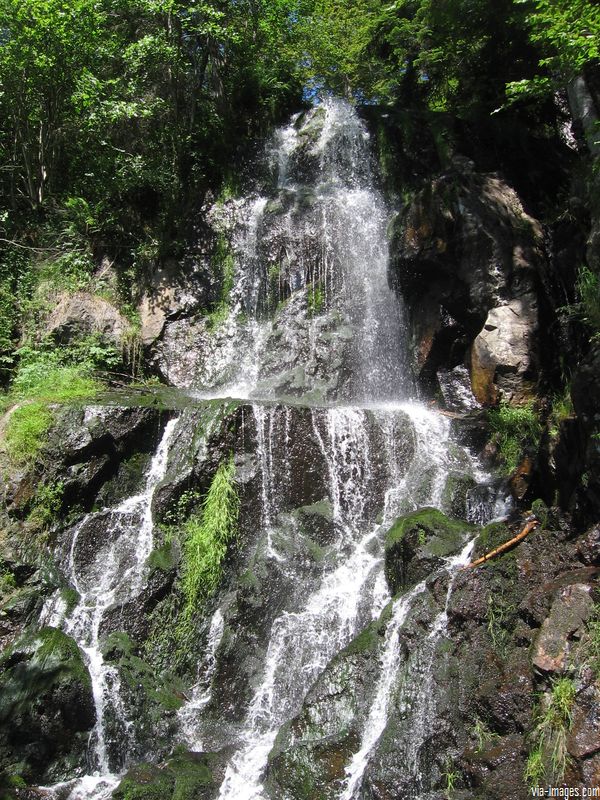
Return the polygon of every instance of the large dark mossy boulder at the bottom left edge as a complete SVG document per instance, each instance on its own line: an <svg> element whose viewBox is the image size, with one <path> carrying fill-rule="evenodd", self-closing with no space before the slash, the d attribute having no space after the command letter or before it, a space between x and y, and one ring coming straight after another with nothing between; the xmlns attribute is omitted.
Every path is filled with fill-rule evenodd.
<svg viewBox="0 0 600 800"><path fill-rule="evenodd" d="M89 672L77 644L55 628L24 634L0 660L4 766L51 782L85 764L95 721Z"/></svg>

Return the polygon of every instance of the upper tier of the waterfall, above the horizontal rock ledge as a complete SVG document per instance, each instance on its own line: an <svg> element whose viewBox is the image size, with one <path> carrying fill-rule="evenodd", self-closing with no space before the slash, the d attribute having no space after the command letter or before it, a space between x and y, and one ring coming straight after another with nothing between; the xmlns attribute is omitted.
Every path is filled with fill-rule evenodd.
<svg viewBox="0 0 600 800"><path fill-rule="evenodd" d="M346 103L329 100L281 129L267 156L278 169L275 194L233 210L229 312L207 339L197 392L405 397L404 309L388 282L389 213L364 126ZM221 213L212 212L217 227Z"/></svg>

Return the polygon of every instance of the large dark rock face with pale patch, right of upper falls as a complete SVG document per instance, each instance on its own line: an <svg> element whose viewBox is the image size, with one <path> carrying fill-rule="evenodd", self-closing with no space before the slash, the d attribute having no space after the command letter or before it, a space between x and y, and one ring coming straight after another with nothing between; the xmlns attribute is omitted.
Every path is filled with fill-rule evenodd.
<svg viewBox="0 0 600 800"><path fill-rule="evenodd" d="M542 229L499 177L466 159L419 192L394 225L394 277L409 308L414 365L432 389L466 365L480 403L518 402L537 377Z"/></svg>

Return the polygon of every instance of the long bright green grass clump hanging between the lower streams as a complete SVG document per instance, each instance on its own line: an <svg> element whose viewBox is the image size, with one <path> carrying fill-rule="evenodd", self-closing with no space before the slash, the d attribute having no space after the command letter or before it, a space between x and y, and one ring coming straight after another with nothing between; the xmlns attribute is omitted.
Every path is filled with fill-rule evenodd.
<svg viewBox="0 0 600 800"><path fill-rule="evenodd" d="M221 579L227 547L237 533L239 498L233 457L215 473L200 511L183 525L183 621L210 596Z"/></svg>

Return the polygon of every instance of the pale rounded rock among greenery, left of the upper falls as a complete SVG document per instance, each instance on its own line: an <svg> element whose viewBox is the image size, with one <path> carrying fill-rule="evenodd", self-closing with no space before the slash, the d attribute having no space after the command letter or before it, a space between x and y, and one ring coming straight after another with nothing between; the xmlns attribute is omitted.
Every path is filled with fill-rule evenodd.
<svg viewBox="0 0 600 800"><path fill-rule="evenodd" d="M46 333L61 344L76 337L100 334L120 347L129 322L107 300L87 292L63 294L46 323Z"/></svg>

